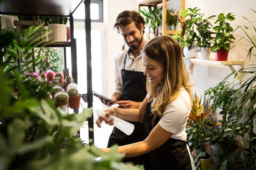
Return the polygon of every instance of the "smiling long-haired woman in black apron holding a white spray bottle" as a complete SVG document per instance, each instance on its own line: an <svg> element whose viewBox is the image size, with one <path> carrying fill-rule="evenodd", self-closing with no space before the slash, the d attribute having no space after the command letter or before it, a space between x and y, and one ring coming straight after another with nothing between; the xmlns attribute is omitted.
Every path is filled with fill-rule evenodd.
<svg viewBox="0 0 256 170"><path fill-rule="evenodd" d="M138 109L106 110L104 120L113 125L114 115L123 120L144 121L145 140L118 147L125 157L149 153L153 170L191 170L194 162L185 132L191 111L192 94L182 58L182 48L169 36L156 37L143 47L144 75L147 75L147 96ZM125 107L125 106L124 106ZM100 123L97 122L98 127ZM111 148L102 149L109 152Z"/></svg>

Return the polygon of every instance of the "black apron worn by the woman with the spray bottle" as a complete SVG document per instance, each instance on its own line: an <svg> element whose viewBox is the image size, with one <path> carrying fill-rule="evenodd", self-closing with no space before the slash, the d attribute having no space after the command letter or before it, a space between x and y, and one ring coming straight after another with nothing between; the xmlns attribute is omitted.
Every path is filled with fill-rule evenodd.
<svg viewBox="0 0 256 170"><path fill-rule="evenodd" d="M144 122L145 133L148 136L151 130L159 122L160 117L156 117L154 126L151 122L154 115L151 113L151 102L147 103ZM170 138L163 145L149 152L152 170L192 170L189 152L187 150L187 142Z"/></svg>

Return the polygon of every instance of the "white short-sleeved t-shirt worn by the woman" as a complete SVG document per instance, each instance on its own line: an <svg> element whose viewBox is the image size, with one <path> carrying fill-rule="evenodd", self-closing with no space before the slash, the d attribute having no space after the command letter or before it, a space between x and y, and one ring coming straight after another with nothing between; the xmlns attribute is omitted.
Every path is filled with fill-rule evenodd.
<svg viewBox="0 0 256 170"><path fill-rule="evenodd" d="M149 97L149 94L146 97ZM173 133L171 138L187 141L185 130L190 112L190 97L182 88L179 97L167 105L158 123L161 128Z"/></svg>

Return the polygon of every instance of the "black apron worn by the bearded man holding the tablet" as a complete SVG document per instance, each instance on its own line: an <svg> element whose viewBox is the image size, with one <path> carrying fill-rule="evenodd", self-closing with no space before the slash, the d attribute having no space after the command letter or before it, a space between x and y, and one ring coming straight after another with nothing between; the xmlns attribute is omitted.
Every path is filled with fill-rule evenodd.
<svg viewBox="0 0 256 170"><path fill-rule="evenodd" d="M122 80L123 80L123 92L121 100L131 100L135 102L141 102L146 97L146 76L143 72L125 70L127 54L123 61ZM118 128L113 128L113 131L108 140L108 148L114 144L119 146L136 143L146 139L143 122L131 122L134 125L134 131L131 135L126 135ZM144 165L145 170L150 170L150 159L148 154L139 155L131 158L124 158L123 162L133 162L134 165Z"/></svg>

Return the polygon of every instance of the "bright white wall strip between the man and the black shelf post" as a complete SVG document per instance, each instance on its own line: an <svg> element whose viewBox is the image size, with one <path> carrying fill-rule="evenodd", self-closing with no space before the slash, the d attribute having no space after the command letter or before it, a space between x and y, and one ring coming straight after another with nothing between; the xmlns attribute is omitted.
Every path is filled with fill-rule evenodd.
<svg viewBox="0 0 256 170"><path fill-rule="evenodd" d="M107 2L107 3L106 3ZM114 58L121 52L121 45L123 45L123 37L113 29L116 17L124 10L138 10L137 0L105 0L107 5L107 55L106 60L102 61L105 70L103 82L106 82L107 89L103 88L103 94L110 96L114 89ZM107 91L106 91L107 90Z"/></svg>

